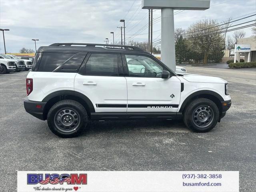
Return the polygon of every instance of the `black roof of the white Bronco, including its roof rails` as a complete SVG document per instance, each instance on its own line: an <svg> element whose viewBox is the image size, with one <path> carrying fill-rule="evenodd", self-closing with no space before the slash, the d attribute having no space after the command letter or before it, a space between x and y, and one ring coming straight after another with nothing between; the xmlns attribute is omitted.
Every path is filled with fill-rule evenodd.
<svg viewBox="0 0 256 192"><path fill-rule="evenodd" d="M51 53L77 53L77 52L112 52L112 53L143 53L149 54L136 46L106 45L90 43L54 43L50 46L42 46L37 52ZM151 55L151 54L149 54Z"/></svg>

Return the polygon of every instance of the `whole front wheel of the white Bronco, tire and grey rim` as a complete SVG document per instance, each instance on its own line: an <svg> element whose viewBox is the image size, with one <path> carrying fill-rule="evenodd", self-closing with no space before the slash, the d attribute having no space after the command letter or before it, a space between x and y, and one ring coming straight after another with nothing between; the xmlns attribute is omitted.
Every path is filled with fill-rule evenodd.
<svg viewBox="0 0 256 192"><path fill-rule="evenodd" d="M212 130L219 119L220 112L217 105L209 99L193 100L183 112L185 125L194 132L208 132Z"/></svg>

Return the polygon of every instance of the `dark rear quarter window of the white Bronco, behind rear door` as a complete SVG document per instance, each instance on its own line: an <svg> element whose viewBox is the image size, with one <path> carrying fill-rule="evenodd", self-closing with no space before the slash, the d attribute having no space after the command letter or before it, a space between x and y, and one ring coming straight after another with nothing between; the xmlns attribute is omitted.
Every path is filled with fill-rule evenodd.
<svg viewBox="0 0 256 192"><path fill-rule="evenodd" d="M73 55L73 53L43 53L38 71L52 72Z"/></svg>

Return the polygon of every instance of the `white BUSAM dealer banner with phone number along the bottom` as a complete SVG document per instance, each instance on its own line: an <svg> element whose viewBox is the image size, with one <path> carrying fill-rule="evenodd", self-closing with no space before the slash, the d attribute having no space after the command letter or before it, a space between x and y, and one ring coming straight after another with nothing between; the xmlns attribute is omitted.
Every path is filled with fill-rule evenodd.
<svg viewBox="0 0 256 192"><path fill-rule="evenodd" d="M18 171L17 192L238 192L238 171Z"/></svg>

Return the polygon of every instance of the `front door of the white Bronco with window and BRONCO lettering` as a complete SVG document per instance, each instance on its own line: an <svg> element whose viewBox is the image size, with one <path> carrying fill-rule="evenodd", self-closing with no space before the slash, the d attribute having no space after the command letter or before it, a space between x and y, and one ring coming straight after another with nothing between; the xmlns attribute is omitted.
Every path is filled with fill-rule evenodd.
<svg viewBox="0 0 256 192"><path fill-rule="evenodd" d="M162 79L164 66L146 55L122 56L128 91L127 112L177 112L180 80Z"/></svg>

